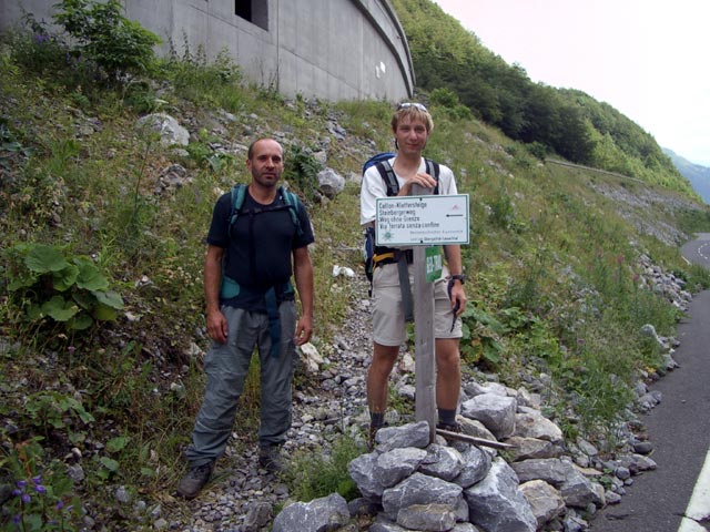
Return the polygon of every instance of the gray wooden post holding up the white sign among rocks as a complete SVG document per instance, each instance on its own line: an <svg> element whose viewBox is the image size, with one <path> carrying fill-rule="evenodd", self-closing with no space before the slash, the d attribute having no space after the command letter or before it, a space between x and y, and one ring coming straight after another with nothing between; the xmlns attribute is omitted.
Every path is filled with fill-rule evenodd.
<svg viewBox="0 0 710 532"><path fill-rule="evenodd" d="M432 188L412 187L413 196L430 195ZM426 280L426 246L414 246L415 415L429 423L429 442L436 438L436 352L434 340L434 283Z"/></svg>

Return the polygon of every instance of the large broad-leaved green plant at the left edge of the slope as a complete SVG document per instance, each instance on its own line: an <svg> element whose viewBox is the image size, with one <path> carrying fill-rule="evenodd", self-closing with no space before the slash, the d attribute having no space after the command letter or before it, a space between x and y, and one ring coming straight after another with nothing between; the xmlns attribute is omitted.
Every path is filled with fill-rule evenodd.
<svg viewBox="0 0 710 532"><path fill-rule="evenodd" d="M68 330L83 330L97 321L114 320L121 296L91 258L65 257L53 246L18 244L3 253L12 303L31 323L50 318Z"/></svg>

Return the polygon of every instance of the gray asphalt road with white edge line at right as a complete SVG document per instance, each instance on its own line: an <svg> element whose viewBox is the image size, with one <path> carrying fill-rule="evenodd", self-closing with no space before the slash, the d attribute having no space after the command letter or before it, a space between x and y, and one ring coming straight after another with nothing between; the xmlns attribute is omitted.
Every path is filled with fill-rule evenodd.
<svg viewBox="0 0 710 532"><path fill-rule="evenodd" d="M710 267L710 234L682 246L683 256ZM633 477L619 504L591 521L592 532L710 530L710 290L697 294L678 330L680 368L655 382L662 400L641 419L658 464Z"/></svg>

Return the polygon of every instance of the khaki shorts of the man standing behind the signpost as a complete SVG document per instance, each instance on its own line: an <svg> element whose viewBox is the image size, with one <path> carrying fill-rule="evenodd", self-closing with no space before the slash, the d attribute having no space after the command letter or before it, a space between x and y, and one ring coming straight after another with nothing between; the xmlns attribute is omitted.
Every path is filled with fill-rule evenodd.
<svg viewBox="0 0 710 532"><path fill-rule="evenodd" d="M434 283L434 338L460 338L462 319L456 318L448 297L449 272L444 267L442 277ZM413 268L409 283L414 287ZM373 339L381 346L400 346L407 339L402 307L402 289L396 264L385 264L373 273Z"/></svg>

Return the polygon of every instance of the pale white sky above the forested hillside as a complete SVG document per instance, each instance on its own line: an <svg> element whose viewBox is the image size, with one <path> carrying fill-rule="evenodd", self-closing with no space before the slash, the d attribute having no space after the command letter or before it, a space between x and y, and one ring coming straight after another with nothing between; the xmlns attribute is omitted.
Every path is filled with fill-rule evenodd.
<svg viewBox="0 0 710 532"><path fill-rule="evenodd" d="M530 80L607 102L710 166L710 0L434 0Z"/></svg>

